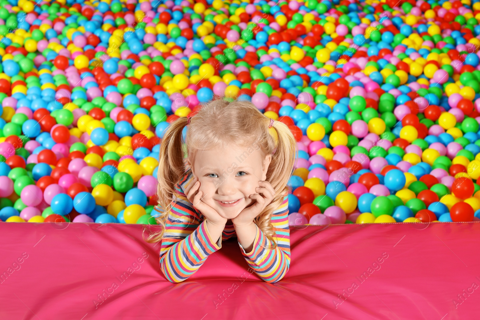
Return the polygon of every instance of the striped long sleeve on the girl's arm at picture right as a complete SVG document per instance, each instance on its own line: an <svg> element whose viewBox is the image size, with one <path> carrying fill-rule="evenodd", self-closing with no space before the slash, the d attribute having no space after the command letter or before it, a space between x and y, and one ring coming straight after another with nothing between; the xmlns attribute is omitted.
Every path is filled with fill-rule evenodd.
<svg viewBox="0 0 480 320"><path fill-rule="evenodd" d="M273 242L265 237L258 226L251 252L245 252L238 241L241 253L249 266L265 282L275 283L281 280L290 267L290 229L288 226L288 197L272 214L272 225L276 232L276 249L269 249ZM266 248L262 248L263 245Z"/></svg>

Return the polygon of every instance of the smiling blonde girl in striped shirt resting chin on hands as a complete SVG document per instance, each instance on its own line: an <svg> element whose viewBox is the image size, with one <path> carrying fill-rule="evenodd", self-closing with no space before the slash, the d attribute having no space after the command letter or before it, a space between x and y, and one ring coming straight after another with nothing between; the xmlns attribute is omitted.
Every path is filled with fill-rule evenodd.
<svg viewBox="0 0 480 320"><path fill-rule="evenodd" d="M247 101L214 100L174 121L158 166L162 231L147 239L162 240L167 279L184 281L232 236L260 278L282 279L290 265L287 182L296 154L287 125Z"/></svg>

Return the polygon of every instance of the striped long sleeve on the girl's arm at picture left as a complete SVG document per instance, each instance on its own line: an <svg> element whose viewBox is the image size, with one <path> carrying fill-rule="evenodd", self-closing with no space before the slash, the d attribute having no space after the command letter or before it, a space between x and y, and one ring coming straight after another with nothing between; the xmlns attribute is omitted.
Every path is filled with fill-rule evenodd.
<svg viewBox="0 0 480 320"><path fill-rule="evenodd" d="M211 240L206 220L200 223L201 213L192 207L183 193L190 182L188 180L185 178L176 187L176 198L168 213L160 248L160 269L169 281L175 283L188 279L222 245L222 237L217 243Z"/></svg>

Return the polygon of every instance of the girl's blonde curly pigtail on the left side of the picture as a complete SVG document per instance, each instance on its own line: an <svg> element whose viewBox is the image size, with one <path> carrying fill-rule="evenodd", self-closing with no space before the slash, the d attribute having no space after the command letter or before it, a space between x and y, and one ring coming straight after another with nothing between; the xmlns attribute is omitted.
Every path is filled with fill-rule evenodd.
<svg viewBox="0 0 480 320"><path fill-rule="evenodd" d="M158 242L163 238L168 213L172 209L175 185L180 182L186 171L183 148L182 130L187 125L187 118L175 120L165 131L160 144L160 155L157 174L157 194L160 215L155 218L161 230L150 234L145 241Z"/></svg>

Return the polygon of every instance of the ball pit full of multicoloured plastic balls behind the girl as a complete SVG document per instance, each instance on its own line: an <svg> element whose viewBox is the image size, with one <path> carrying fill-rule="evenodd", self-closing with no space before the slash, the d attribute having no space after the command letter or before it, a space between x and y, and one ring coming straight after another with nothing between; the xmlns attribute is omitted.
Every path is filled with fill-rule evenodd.
<svg viewBox="0 0 480 320"><path fill-rule="evenodd" d="M164 131L214 96L294 134L290 225L480 218L479 0L0 7L1 221L155 224Z"/></svg>

